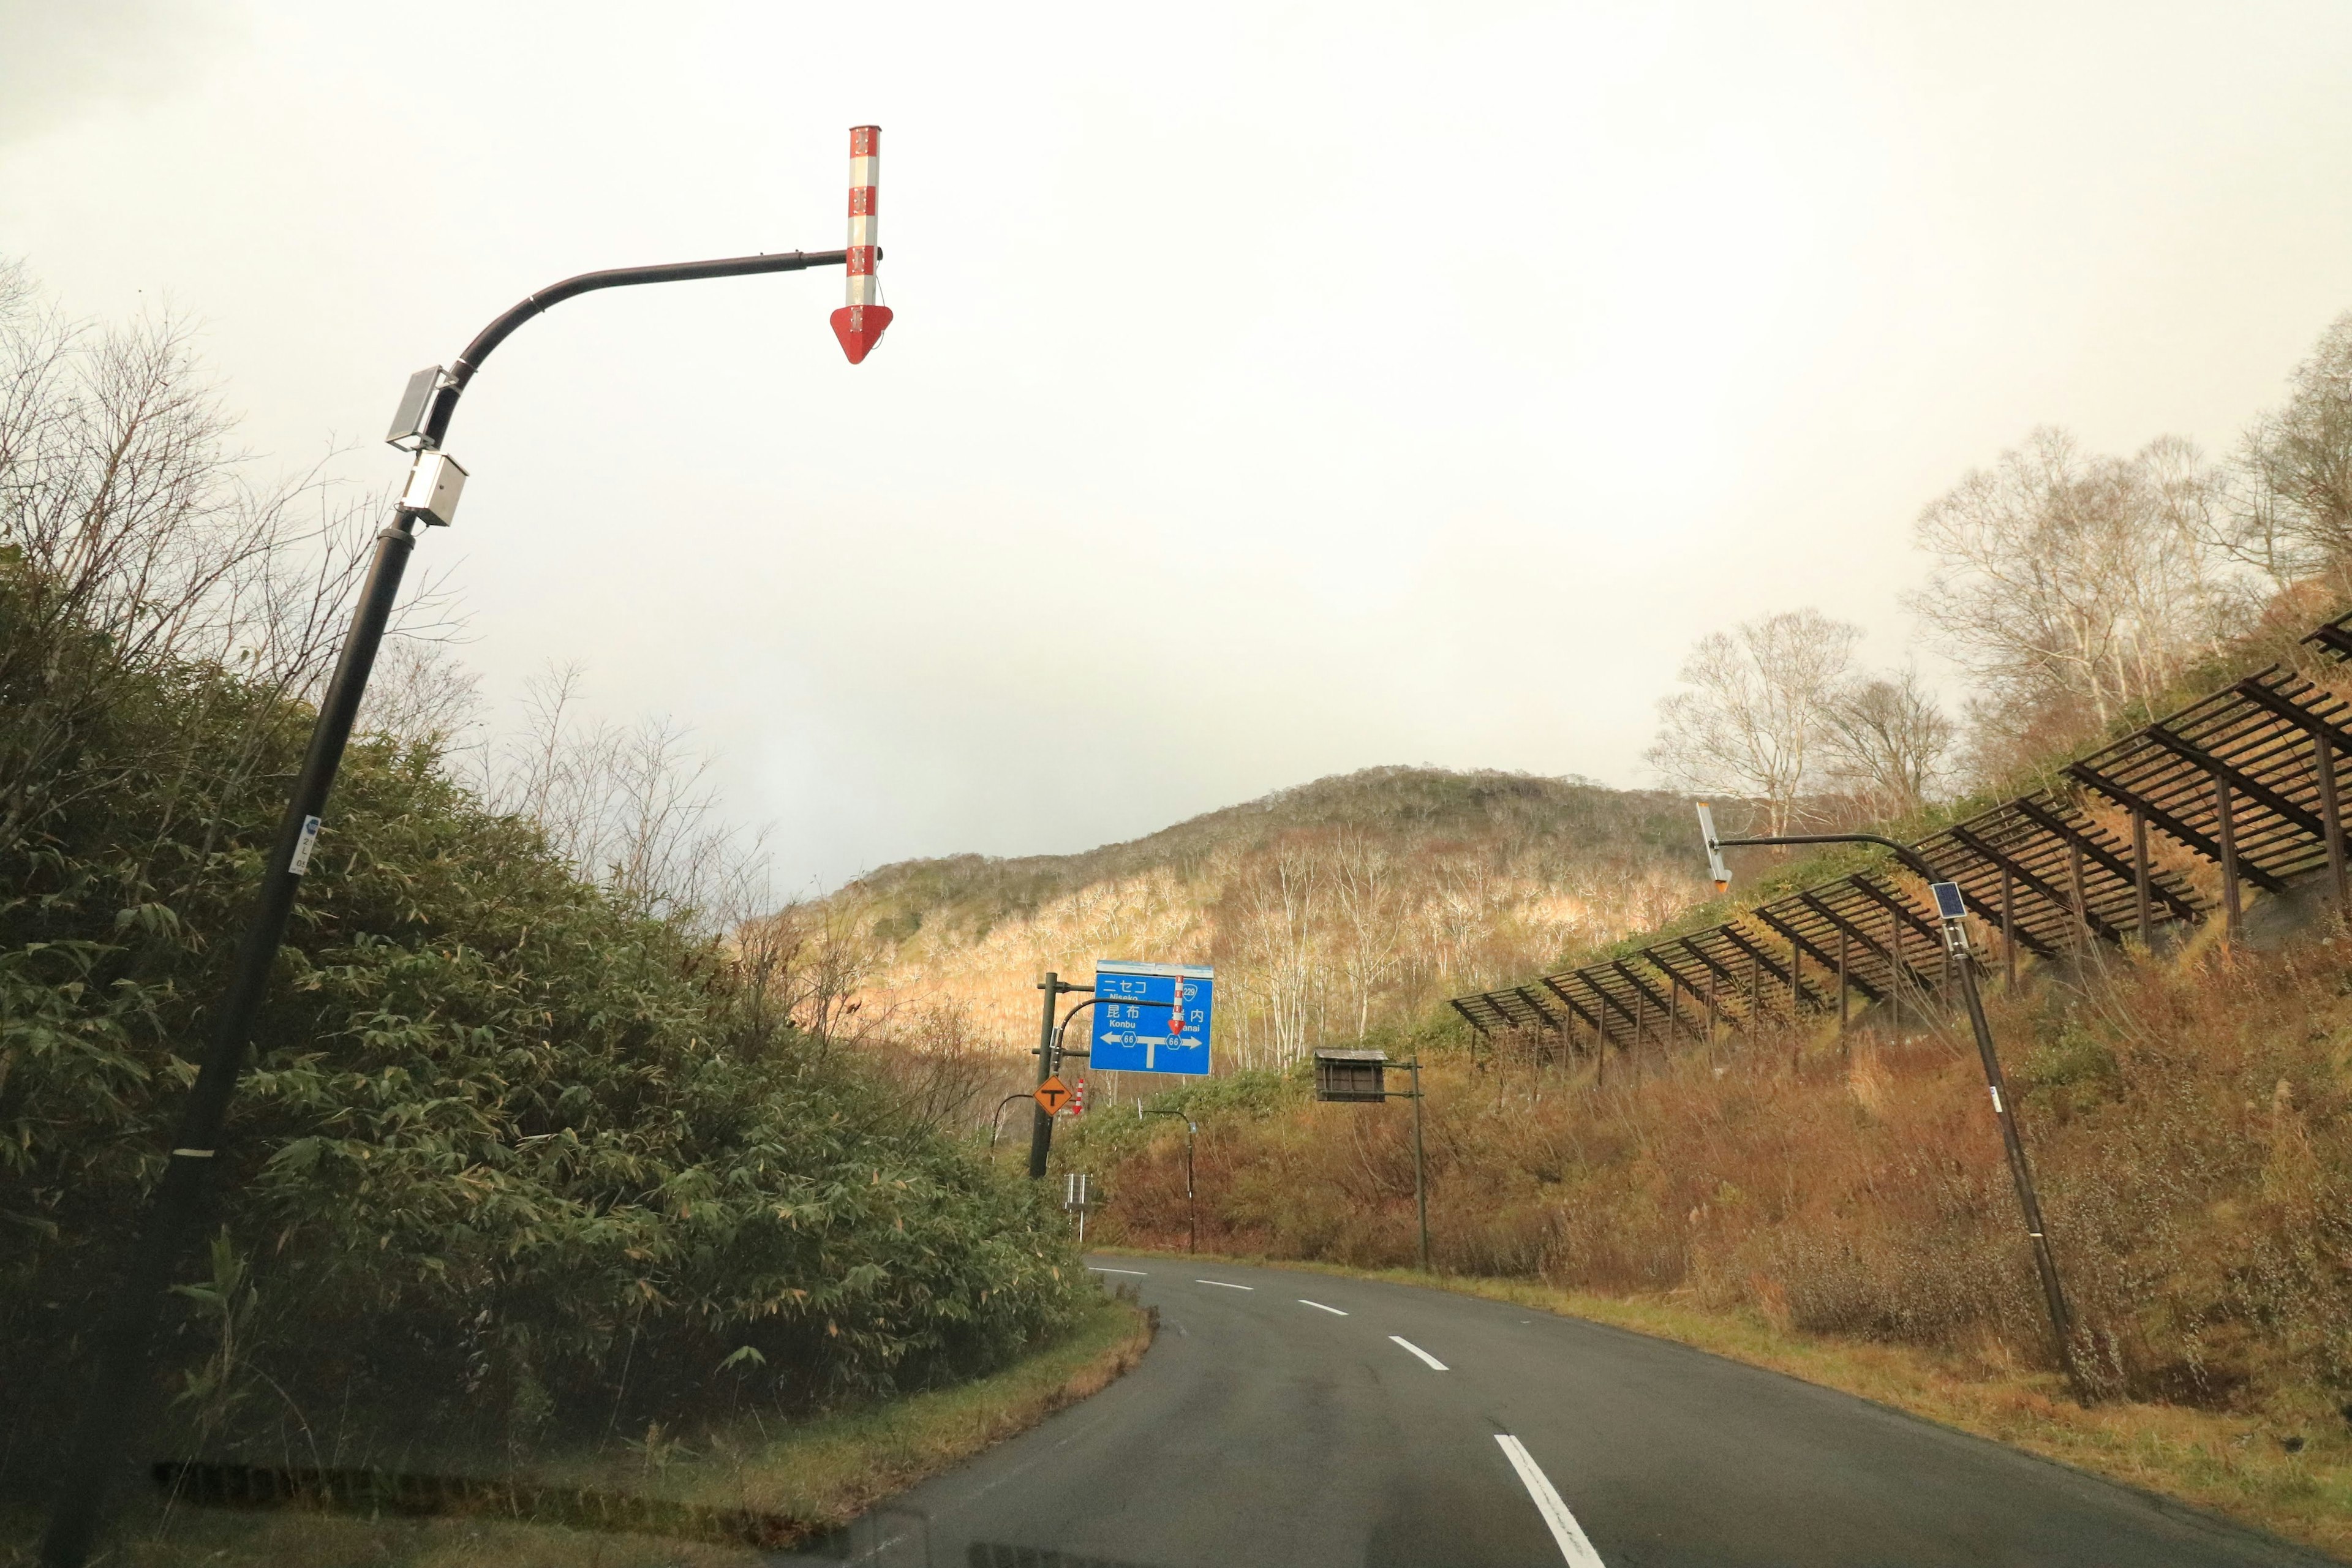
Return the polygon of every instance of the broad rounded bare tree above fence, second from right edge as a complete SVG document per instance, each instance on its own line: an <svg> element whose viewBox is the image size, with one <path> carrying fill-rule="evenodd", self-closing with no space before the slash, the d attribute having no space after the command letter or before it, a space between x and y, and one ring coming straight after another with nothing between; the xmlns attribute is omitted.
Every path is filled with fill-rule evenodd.
<svg viewBox="0 0 2352 1568"><path fill-rule="evenodd" d="M2209 545L2218 496L2178 437L2110 458L2034 430L1919 515L1936 571L1910 607L2013 719L2105 726L2246 614Z"/></svg>

